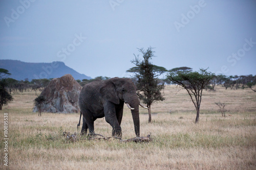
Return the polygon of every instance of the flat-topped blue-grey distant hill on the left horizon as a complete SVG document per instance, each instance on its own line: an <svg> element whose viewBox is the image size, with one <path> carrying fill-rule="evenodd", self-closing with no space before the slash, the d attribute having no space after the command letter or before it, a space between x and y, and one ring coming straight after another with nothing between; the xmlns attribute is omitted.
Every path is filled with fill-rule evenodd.
<svg viewBox="0 0 256 170"><path fill-rule="evenodd" d="M51 79L60 78L66 74L71 74L75 80L92 79L80 74L74 69L60 61L52 63L27 63L18 60L0 60L0 68L5 68L11 73L8 78L16 80L29 79Z"/></svg>

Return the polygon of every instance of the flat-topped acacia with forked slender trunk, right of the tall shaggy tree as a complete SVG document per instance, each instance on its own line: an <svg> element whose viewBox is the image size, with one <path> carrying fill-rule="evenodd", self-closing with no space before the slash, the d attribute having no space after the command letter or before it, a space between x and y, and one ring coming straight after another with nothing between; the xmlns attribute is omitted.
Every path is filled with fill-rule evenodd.
<svg viewBox="0 0 256 170"><path fill-rule="evenodd" d="M175 84L180 85L187 90L193 104L197 110L196 123L199 120L200 105L202 100L203 89L215 78L215 74L207 72L207 69L201 68L200 71L193 72L170 72L167 78Z"/></svg>

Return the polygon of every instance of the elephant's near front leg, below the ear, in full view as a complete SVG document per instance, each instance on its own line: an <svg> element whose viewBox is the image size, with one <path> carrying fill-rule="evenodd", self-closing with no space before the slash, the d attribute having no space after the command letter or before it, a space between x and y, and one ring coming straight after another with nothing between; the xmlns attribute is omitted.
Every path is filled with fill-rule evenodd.
<svg viewBox="0 0 256 170"><path fill-rule="evenodd" d="M108 122L113 128L112 136L122 137L122 129L117 120L115 104L111 102L106 103L104 105L104 114L106 122Z"/></svg>

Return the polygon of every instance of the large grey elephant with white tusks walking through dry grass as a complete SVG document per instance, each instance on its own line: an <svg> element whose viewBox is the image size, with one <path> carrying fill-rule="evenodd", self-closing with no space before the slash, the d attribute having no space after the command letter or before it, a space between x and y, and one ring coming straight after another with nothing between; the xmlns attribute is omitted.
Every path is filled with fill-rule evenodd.
<svg viewBox="0 0 256 170"><path fill-rule="evenodd" d="M78 103L80 107L80 119L77 128L80 126L81 134L94 133L94 121L97 118L105 117L113 130L112 136L121 137L121 121L123 116L124 103L131 109L135 134L140 136L139 105L145 109L136 93L136 86L129 78L111 78L108 80L96 80L82 87Z"/></svg>

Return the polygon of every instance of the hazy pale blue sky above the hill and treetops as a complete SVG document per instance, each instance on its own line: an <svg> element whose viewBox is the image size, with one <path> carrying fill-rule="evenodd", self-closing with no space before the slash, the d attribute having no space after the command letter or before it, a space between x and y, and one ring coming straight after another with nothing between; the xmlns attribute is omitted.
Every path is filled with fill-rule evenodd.
<svg viewBox="0 0 256 170"><path fill-rule="evenodd" d="M166 69L256 75L255 1L1 0L0 18L0 59L126 77L137 48L152 46Z"/></svg>

